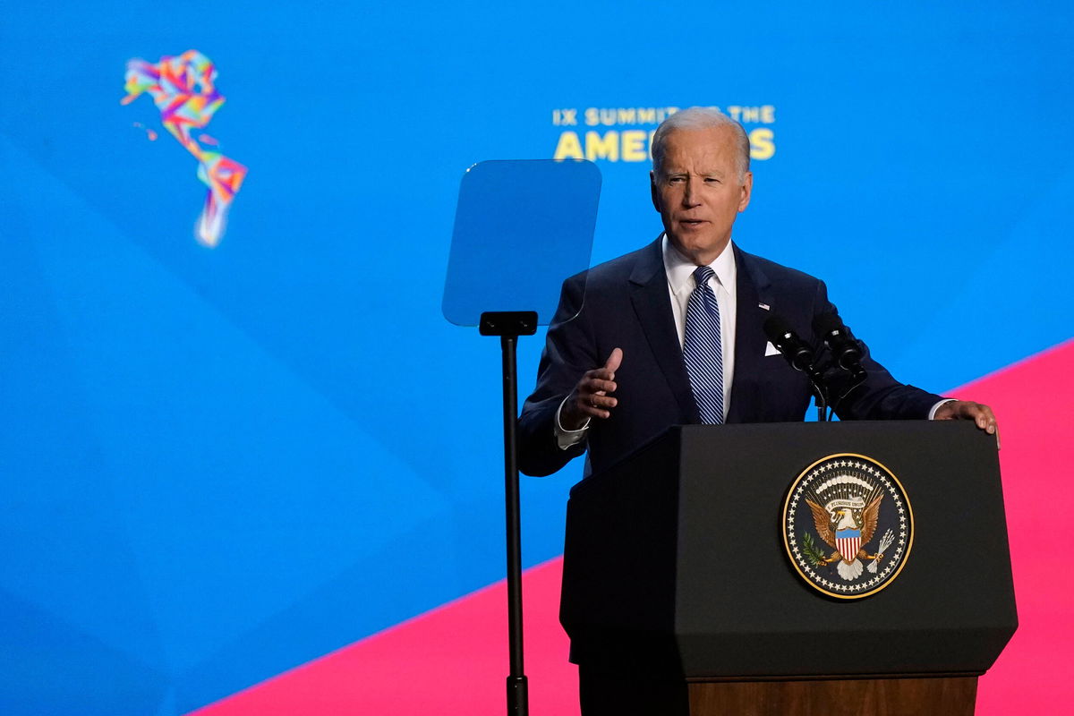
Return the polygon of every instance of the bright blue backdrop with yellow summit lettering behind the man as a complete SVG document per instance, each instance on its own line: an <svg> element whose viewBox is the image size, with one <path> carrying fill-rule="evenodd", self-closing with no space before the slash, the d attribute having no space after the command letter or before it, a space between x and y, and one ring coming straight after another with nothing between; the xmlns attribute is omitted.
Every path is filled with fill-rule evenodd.
<svg viewBox="0 0 1074 716"><path fill-rule="evenodd" d="M1074 12L957 8L0 1L0 711L188 711L502 575L498 347L440 316L475 161L594 159L601 261L661 229L649 120L719 106L736 240L896 377L1069 338ZM191 48L249 170L213 249L119 103ZM577 478L525 481L526 565Z"/></svg>

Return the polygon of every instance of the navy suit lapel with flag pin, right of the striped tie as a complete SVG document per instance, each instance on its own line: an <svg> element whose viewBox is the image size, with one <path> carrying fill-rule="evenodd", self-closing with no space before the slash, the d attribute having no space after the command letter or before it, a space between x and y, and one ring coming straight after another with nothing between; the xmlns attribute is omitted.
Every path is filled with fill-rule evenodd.
<svg viewBox="0 0 1074 716"><path fill-rule="evenodd" d="M735 312L735 378L731 384L731 405L728 423L749 423L757 420L763 409L758 393L758 375L765 355L765 320L770 312L759 304L771 306L770 282L754 257L734 246L738 272Z"/></svg>

